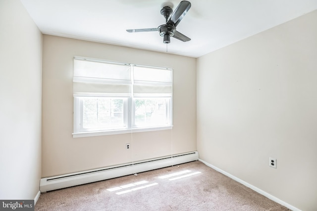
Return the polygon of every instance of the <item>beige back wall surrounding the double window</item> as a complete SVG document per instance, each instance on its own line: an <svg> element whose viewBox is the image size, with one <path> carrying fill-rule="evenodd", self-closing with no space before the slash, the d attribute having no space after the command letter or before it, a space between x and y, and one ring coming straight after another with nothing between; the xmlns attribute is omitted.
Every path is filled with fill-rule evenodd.
<svg viewBox="0 0 317 211"><path fill-rule="evenodd" d="M173 130L73 138L74 56L172 67ZM44 35L42 124L42 177L195 151L196 59Z"/></svg>

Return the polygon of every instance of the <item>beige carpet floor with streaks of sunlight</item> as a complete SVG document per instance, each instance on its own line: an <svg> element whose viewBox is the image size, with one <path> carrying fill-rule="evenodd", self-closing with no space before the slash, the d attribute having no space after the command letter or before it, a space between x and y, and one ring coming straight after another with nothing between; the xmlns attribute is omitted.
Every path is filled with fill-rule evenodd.
<svg viewBox="0 0 317 211"><path fill-rule="evenodd" d="M178 175L170 175L170 174ZM162 177L164 176L164 177ZM195 161L41 194L35 211L289 211Z"/></svg>

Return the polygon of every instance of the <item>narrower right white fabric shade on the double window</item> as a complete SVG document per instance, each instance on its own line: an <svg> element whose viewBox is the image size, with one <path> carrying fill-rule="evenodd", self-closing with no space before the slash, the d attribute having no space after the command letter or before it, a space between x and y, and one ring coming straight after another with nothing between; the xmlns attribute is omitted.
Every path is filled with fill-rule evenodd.
<svg viewBox="0 0 317 211"><path fill-rule="evenodd" d="M133 66L133 93L171 94L172 70L152 67Z"/></svg>

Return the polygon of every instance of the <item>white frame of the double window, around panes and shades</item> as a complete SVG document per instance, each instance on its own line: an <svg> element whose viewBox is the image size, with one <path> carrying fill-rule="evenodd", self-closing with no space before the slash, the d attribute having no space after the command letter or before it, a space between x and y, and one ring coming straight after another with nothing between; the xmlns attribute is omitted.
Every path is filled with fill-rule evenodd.
<svg viewBox="0 0 317 211"><path fill-rule="evenodd" d="M82 57L80 57L82 58ZM89 58L88 58L89 59ZM85 58L87 60L87 58ZM90 61L96 61L96 59L91 59ZM99 62L101 60L98 60ZM102 60L103 62L108 62L106 60ZM113 64L113 62L111 62ZM135 64L130 64L131 67L135 66ZM144 67L144 66L143 66ZM151 67L151 68L158 68L158 69L168 69L172 71L171 68L160 68L160 67ZM172 72L171 72L172 73ZM171 74L172 75L172 74ZM132 77L133 78L133 77ZM133 81L133 79L132 79ZM133 84L133 82L132 82ZM133 92L133 89L132 91ZM120 129L106 129L106 130L83 130L81 128L81 122L83 121L83 113L82 111L82 105L81 105L81 97L119 97L119 98L127 98L124 100L124 122L127 123L126 128L120 128ZM169 98L169 106L166 105L166 117L168 118L169 125L166 126L156 126L156 127L136 127L134 125L134 117L135 117L135 98L158 98L158 97L164 97ZM74 93L74 132L72 133L74 138L77 137L90 137L90 136L100 136L100 135L114 135L114 134L123 134L123 133L131 133L131 132L145 132L145 131L155 131L155 130L165 130L165 129L171 129L173 127L172 120L173 120L173 97L172 93L170 94L146 94L146 95L138 95L137 97L133 96L133 93L131 96L120 96L116 95L115 93L106 93L106 94L96 94L96 95L85 95L81 93Z"/></svg>

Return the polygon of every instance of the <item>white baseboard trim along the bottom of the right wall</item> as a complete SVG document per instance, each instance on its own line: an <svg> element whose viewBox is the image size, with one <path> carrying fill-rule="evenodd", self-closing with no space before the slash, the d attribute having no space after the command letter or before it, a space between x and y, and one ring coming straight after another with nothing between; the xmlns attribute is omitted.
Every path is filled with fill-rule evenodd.
<svg viewBox="0 0 317 211"><path fill-rule="evenodd" d="M198 159L198 160L201 161L202 163L204 163L206 166L210 167L211 169L214 169L214 170L216 170L216 171L218 171L218 172L230 177L231 179L243 184L244 186L247 186L248 188L251 188L252 190L260 193L263 196L265 196L266 198L269 198L270 200L272 200L272 201L274 201L274 202L276 202L276 203L278 203L278 204L280 204L280 205L282 205L282 206L284 206L284 207L286 207L286 208L288 208L288 209L290 209L292 211L301 211L300 209L295 208L294 206L292 206L292 205L290 205L290 204L288 204L288 203L276 198L275 196L272 196L269 193L266 193L265 191L261 190L260 188L257 188L256 186L251 185L248 182L245 182L242 179L239 179L238 177L233 176L232 174L230 174L230 173L228 173L228 172L226 172L226 171L224 171L222 169L219 169L219 168L207 163L206 161L203 161L202 159Z"/></svg>

